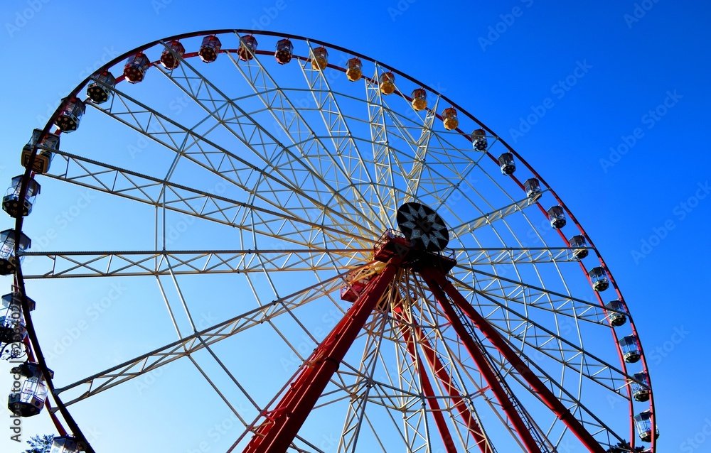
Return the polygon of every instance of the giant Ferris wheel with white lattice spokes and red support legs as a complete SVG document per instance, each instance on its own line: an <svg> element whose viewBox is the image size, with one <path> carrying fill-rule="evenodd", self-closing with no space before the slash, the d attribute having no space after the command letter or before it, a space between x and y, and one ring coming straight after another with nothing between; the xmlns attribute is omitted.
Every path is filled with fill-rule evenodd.
<svg viewBox="0 0 711 453"><path fill-rule="evenodd" d="M50 413L53 452L654 451L589 236L392 67L280 33L165 38L77 86L21 161L0 340L9 408Z"/></svg>

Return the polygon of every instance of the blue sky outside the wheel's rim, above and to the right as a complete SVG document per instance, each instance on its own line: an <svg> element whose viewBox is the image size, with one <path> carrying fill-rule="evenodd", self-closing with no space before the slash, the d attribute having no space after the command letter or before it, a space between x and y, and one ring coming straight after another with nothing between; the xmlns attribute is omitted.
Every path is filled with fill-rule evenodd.
<svg viewBox="0 0 711 453"><path fill-rule="evenodd" d="M699 146L711 102L711 6L561 5L6 1L0 179L9 183L20 173L21 146L61 97L101 62L142 43L203 29L264 28L363 53L470 111L557 191L601 251L636 320L652 373L660 451L708 451L710 369L702 347L711 317L711 157ZM81 195L70 196L78 202ZM53 200L43 197L38 204ZM53 215L46 221L61 227ZM9 217L2 225L11 227ZM107 292L93 290L97 300ZM3 376L2 388L6 382ZM30 420L25 432L48 432L46 422ZM0 445L15 448L7 437L4 430Z"/></svg>

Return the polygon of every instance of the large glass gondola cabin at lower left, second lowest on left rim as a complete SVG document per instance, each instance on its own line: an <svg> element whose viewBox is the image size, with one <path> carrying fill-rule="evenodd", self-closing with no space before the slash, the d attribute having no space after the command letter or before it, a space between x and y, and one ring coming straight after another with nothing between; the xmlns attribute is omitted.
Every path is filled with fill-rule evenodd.
<svg viewBox="0 0 711 453"><path fill-rule="evenodd" d="M48 371L52 377L52 371ZM20 417L32 417L40 413L47 399L48 388L38 365L25 362L15 366L10 372L13 374L14 383L7 408Z"/></svg>

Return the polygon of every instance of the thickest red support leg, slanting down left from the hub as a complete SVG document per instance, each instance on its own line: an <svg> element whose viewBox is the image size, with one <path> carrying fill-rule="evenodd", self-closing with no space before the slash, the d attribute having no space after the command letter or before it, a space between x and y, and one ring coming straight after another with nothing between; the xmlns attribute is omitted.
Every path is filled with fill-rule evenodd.
<svg viewBox="0 0 711 453"><path fill-rule="evenodd" d="M264 415L266 420L257 428L245 448L245 453L286 452L296 433L306 421L321 393L331 381L346 352L363 329L370 313L392 283L400 258L394 257L368 288L353 302L341 322L316 348L304 364L301 373L277 406Z"/></svg>

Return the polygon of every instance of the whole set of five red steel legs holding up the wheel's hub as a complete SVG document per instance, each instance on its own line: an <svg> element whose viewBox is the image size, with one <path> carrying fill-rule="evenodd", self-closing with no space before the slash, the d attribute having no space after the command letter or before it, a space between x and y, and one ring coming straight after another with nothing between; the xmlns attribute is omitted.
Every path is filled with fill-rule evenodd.
<svg viewBox="0 0 711 453"><path fill-rule="evenodd" d="M331 380L333 373L338 369L339 364L346 356L348 349L358 337L358 333L370 314L375 310L376 305L380 302L385 294L388 285L395 278L395 273L400 268L401 263L407 258L406 253L397 253L392 258L387 260L387 265L383 271L373 280L368 283L368 286L359 295L358 299L353 302L351 308L346 312L341 322L336 324L336 327L328 334L321 344L316 348L296 380L289 386L289 390L284 394L279 403L273 410L264 413L264 422L257 427L255 435L250 440L244 453L267 453L267 452L286 452L289 445L292 444L294 437L301 428L301 425L306 421L311 410L316 405L316 401L324 392L324 389ZM417 253L417 252L415 252ZM419 266L418 266L419 267ZM476 312L474 307L462 296L456 288L447 280L442 270L434 266L434 263L422 266L417 269L419 275L424 279L425 283L432 291L435 300L444 310L444 314L454 328L457 336L466 347L467 351L474 360L474 363L479 368L483 378L486 380L488 387L496 396L498 403L506 413L508 419L514 427L514 430L523 441L525 448L531 453L540 453L540 447L535 442L533 435L527 425L521 418L520 413L515 408L508 394L504 390L499 378L491 369L491 364L486 360L486 357L481 351L481 347L474 342L474 339L466 331L466 327L461 322L456 314L452 304L459 307L459 310L464 312L466 317L474 323L477 329L483 333L493 346L501 353L501 355L513 366L520 376L528 383L533 391L538 395L540 400L552 410L560 420L570 429L570 431L582 442L589 452L604 453L602 446L595 438L584 429L581 422L575 418L570 410L565 408L558 398L548 389L538 376L531 371L524 363L518 354L511 349L505 339L501 337L496 329L484 319L479 312ZM447 299L449 296L449 299ZM450 302L451 299L451 302ZM396 307L393 311L396 319L402 320L402 308ZM427 398L427 404L432 410L435 425L439 435L442 437L447 453L456 453L454 442L449 432L447 422L444 420L444 415L436 395L434 388L429 381L429 377L424 369L419 369L422 361L419 359L419 353L415 349L415 342L419 342L422 350L427 358L427 364L439 381L442 382L444 388L450 393L454 406L459 415L466 422L466 426L471 432L471 435L479 445L479 449L483 453L491 453L491 444L483 435L483 430L479 422L476 421L469 408L466 407L464 399L459 391L454 387L451 376L447 373L447 369L439 360L432 345L422 332L422 329L415 326L415 338L407 327L400 329L402 337L405 339L407 351L418 367L417 371L422 382L422 390Z"/></svg>

